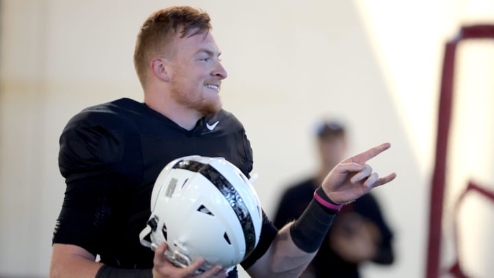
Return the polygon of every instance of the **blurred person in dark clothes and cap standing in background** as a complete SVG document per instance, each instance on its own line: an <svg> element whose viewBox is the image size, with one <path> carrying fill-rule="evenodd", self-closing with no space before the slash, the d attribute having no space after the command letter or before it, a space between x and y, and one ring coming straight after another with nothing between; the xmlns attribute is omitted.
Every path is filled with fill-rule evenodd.
<svg viewBox="0 0 494 278"><path fill-rule="evenodd" d="M274 218L279 229L301 216L327 172L344 159L348 140L340 121L323 121L316 137L318 172L285 190ZM390 265L393 261L392 232L377 199L368 193L340 210L301 277L357 278L364 262Z"/></svg>

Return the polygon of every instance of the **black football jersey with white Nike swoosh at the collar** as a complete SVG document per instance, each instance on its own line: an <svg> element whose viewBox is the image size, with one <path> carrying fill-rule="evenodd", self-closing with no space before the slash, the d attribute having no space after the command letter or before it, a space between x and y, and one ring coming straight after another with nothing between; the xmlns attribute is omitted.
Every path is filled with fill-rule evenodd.
<svg viewBox="0 0 494 278"><path fill-rule="evenodd" d="M224 157L246 176L252 149L242 124L226 111L185 130L127 98L84 109L60 136L58 163L67 189L54 243L75 244L117 268L152 268L154 253L139 242L150 216L154 181L170 161L187 155ZM261 239L242 262L251 266L277 229L263 213Z"/></svg>

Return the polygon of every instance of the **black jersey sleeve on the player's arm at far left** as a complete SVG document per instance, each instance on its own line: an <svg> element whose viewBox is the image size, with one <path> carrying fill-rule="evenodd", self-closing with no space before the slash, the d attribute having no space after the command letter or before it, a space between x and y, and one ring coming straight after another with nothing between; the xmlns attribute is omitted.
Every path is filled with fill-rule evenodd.
<svg viewBox="0 0 494 278"><path fill-rule="evenodd" d="M67 188L53 243L81 246L97 254L111 221L120 183L113 169L121 158L119 136L75 117L62 132L58 163Z"/></svg>

